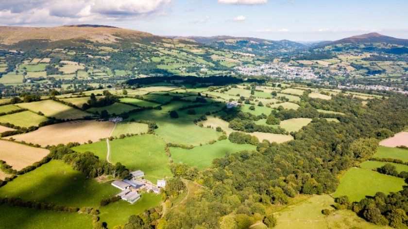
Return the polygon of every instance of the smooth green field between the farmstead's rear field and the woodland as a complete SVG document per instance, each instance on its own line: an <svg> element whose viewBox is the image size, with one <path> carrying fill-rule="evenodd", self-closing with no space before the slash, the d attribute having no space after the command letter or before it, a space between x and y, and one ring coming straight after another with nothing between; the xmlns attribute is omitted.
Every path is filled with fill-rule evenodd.
<svg viewBox="0 0 408 229"><path fill-rule="evenodd" d="M255 149L256 147L253 145L235 144L229 140L221 140L214 144L206 144L192 149L170 147L170 152L174 163L185 163L203 170L209 167L215 158L222 158L227 153Z"/></svg>

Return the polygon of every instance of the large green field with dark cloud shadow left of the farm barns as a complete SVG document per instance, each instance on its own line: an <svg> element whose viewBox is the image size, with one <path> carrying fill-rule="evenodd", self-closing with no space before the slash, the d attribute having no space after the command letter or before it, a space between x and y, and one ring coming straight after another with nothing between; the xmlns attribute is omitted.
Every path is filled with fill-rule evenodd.
<svg viewBox="0 0 408 229"><path fill-rule="evenodd" d="M0 188L2 197L71 207L97 207L102 198L117 193L118 189L110 182L88 179L84 173L58 160L51 160Z"/></svg>

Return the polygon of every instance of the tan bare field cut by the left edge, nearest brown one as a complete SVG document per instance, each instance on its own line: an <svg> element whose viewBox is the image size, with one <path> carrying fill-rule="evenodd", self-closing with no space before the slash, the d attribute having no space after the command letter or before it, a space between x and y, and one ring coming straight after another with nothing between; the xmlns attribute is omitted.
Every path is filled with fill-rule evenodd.
<svg viewBox="0 0 408 229"><path fill-rule="evenodd" d="M0 140L0 160L21 170L34 162L38 162L49 154L44 148L29 147L26 145Z"/></svg>

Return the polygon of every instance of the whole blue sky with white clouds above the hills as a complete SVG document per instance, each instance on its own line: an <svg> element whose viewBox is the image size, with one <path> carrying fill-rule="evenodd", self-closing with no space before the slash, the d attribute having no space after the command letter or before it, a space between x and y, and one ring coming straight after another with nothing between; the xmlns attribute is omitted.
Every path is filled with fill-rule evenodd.
<svg viewBox="0 0 408 229"><path fill-rule="evenodd" d="M156 35L408 39L408 0L0 0L0 25L98 24Z"/></svg>

